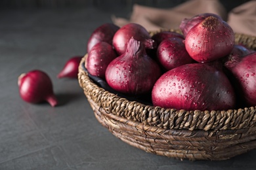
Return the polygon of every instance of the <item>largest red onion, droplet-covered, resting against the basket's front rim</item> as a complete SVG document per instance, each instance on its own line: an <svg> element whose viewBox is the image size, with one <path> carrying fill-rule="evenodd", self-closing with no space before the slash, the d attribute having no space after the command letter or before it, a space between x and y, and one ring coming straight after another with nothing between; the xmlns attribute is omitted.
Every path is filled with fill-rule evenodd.
<svg viewBox="0 0 256 170"><path fill-rule="evenodd" d="M205 63L181 65L164 73L154 85L152 102L184 110L234 109L236 97L223 72Z"/></svg>

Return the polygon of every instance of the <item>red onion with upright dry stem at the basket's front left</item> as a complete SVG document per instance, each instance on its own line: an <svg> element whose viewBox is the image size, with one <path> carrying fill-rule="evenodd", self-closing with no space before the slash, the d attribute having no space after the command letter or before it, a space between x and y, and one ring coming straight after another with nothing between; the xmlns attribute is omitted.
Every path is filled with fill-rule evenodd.
<svg viewBox="0 0 256 170"><path fill-rule="evenodd" d="M131 38L124 54L106 69L106 81L117 92L137 95L148 93L161 75L159 65L146 54L140 41Z"/></svg>

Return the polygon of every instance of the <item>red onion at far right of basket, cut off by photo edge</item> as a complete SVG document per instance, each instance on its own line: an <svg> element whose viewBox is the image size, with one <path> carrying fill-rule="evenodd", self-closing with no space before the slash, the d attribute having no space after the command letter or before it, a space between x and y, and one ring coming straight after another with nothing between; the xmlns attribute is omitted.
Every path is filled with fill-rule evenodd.
<svg viewBox="0 0 256 170"><path fill-rule="evenodd" d="M240 58L232 56L225 63L236 78L236 90L244 99L245 105L256 106L256 52Z"/></svg>

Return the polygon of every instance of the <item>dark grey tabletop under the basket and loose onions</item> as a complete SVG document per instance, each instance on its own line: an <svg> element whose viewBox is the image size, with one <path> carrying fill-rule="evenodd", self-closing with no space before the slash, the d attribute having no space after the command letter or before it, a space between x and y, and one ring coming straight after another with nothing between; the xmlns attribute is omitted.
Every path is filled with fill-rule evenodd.
<svg viewBox="0 0 256 170"><path fill-rule="evenodd" d="M123 9L0 10L0 169L256 169L256 150L225 161L146 153L99 124L64 63L84 55L92 31ZM53 80L58 107L22 101L17 78L33 69Z"/></svg>

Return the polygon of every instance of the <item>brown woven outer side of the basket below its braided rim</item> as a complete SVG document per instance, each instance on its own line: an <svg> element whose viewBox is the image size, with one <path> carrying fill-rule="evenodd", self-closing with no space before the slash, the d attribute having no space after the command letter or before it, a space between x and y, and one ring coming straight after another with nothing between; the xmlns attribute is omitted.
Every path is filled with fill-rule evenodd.
<svg viewBox="0 0 256 170"><path fill-rule="evenodd" d="M117 138L146 152L189 160L226 160L256 148L255 128L243 131L160 129L107 114L90 101L95 116Z"/></svg>

